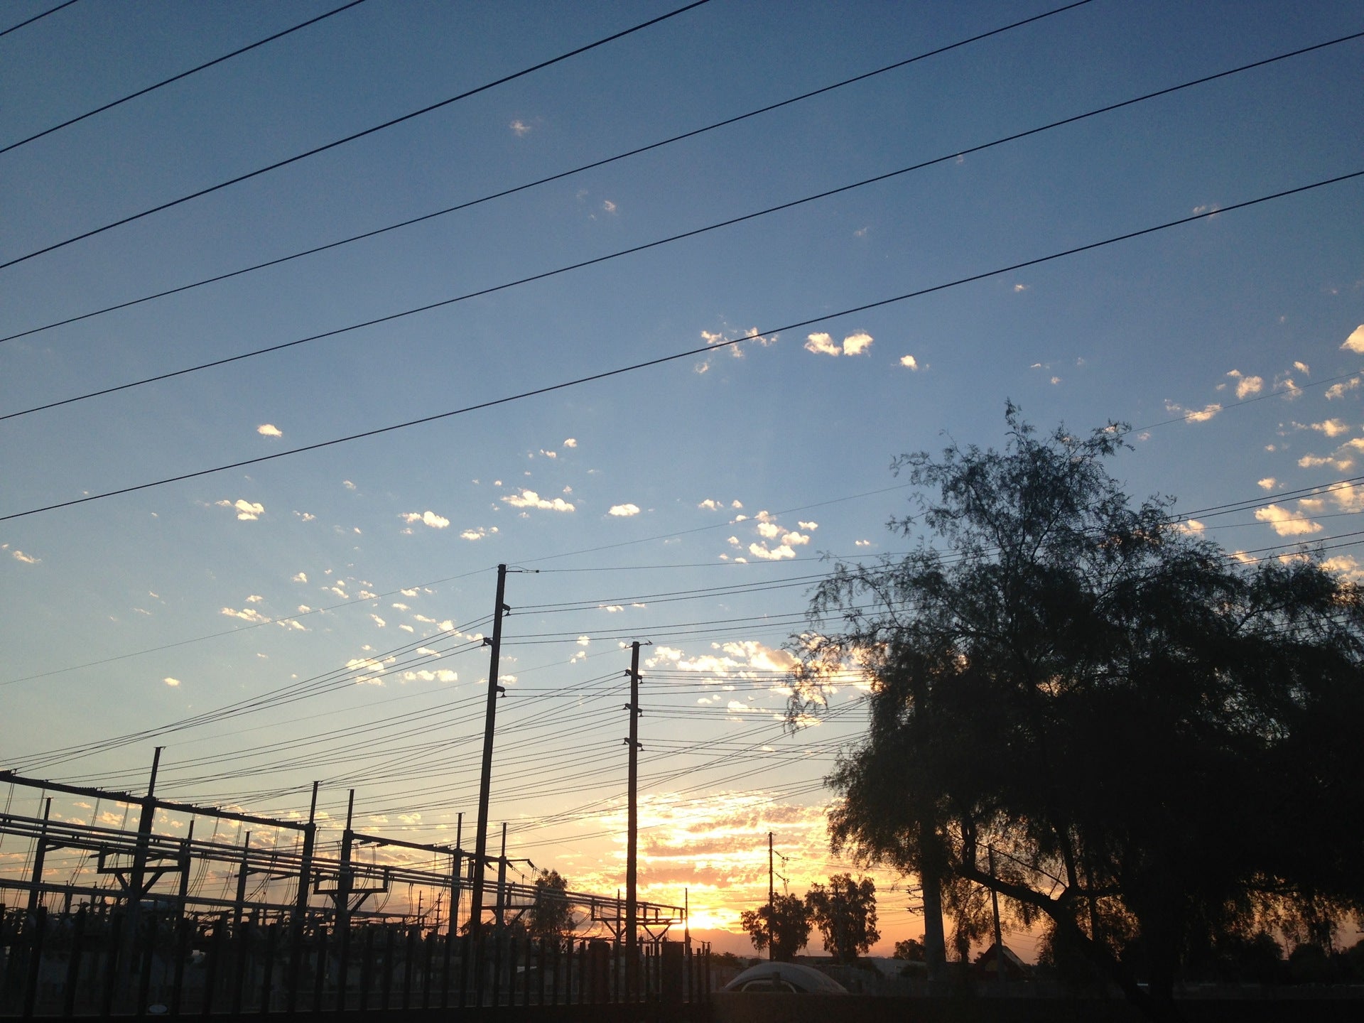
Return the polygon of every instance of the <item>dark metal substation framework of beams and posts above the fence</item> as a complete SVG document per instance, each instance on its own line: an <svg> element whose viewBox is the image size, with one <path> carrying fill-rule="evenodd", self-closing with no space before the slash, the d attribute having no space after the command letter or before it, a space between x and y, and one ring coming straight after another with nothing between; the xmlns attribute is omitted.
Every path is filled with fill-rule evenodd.
<svg viewBox="0 0 1364 1023"><path fill-rule="evenodd" d="M71 913L74 907L86 906L98 913L120 906L136 911L151 904L161 910L173 910L180 915L231 914L235 925L247 915L256 923L288 919L299 923L323 922L337 928L346 928L352 922L398 918L430 930L441 929L443 915L443 929L453 934L479 873L475 854L460 846L458 833L454 844L438 844L356 831L352 827L353 792L346 824L341 831L340 854L331 857L318 850L315 790L314 809L310 810L308 820L303 821L173 802L151 794L132 795L64 784L0 771L0 786L4 784L37 790L41 794L59 792L140 809L136 831L104 827L95 821L76 824L55 820L50 816L50 798L45 801L40 817L0 813L0 843L19 839L29 850L22 869L10 869L0 862L0 893L15 892L19 896L18 902L29 913L40 906L48 906L57 913ZM188 833L183 836L158 833L155 822L160 812L188 816L191 818ZM243 829L255 825L276 833L289 832L296 837L292 848L252 846L250 832L247 840L240 844L195 837L192 833L195 817L236 822ZM357 855L363 848L387 850L398 855L420 853L431 855L432 859L445 857L449 869L378 862L376 857L366 859ZM85 865L67 880L48 876L55 873L48 870L48 854L59 850L85 857ZM499 857L484 857L484 872L492 866L498 868L495 896L492 904L484 908L492 913L490 922L499 928L510 926L537 903L543 904L547 895L543 888L533 884L509 881L506 873L513 862L518 861L509 859L505 853ZM235 873L233 895L214 896L199 891L202 885L195 877L202 880L214 868L220 876ZM432 889L438 899L420 914L411 906L406 906L404 913L385 913L382 907L368 904L372 896L387 895L402 885ZM582 911L585 914L582 922L600 925L612 937L619 937L626 918L619 893L604 896L565 891L555 892L551 898ZM443 914L441 899L445 900ZM59 902L60 907L52 906L53 900ZM4 902L7 900L0 898L0 907ZM432 913L434 918L428 918ZM634 919L641 930L657 940L668 928L685 925L686 910L679 906L640 902Z"/></svg>

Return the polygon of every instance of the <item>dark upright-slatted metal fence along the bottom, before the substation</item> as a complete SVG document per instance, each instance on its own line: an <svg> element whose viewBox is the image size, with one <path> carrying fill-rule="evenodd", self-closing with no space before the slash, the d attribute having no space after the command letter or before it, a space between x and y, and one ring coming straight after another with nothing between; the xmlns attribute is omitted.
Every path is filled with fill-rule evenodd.
<svg viewBox="0 0 1364 1023"><path fill-rule="evenodd" d="M157 906L0 914L0 1013L209 1016L476 1005L698 1004L709 948L507 928L475 943L404 923L337 929Z"/></svg>

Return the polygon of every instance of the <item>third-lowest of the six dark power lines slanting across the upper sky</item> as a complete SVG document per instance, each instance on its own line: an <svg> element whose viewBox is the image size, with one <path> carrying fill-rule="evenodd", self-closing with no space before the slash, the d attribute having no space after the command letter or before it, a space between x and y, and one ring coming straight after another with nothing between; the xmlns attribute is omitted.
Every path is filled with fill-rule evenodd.
<svg viewBox="0 0 1364 1023"><path fill-rule="evenodd" d="M130 299L127 301L120 301L120 303L116 303L113 306L105 306L104 308L93 310L91 312L82 312L78 316L68 316L67 319L59 319L59 321L55 321L52 323L45 323L41 327L30 327L29 330L20 330L16 334L10 334L7 337L0 337L0 342L3 342L3 341L14 341L15 338L27 337L29 334L37 334L37 333L41 333L44 330L52 330L53 327L65 326L67 323L78 323L79 321L83 321L83 319L90 319L93 316L101 316L105 312L113 312L116 310L125 310L130 306L140 306L145 301L154 301L155 299L164 299L164 297L170 296L170 295L179 295L181 292L187 292L187 291L191 291L194 288L202 288L203 285L207 285L207 284L217 284L218 281L226 281L226 280L229 280L232 277L240 277L241 274L248 274L248 273L252 273L255 270L265 270L266 267L270 267L270 266L278 266L280 263L288 263L292 259L301 259L303 256L315 255L318 252L326 252L327 250L331 250L331 248L338 248L341 246L348 246L352 241L363 241L364 239L375 237L378 235L386 235L390 231L398 231L400 228L409 228L413 224L421 224L421 222L428 221L428 220L435 220L436 217L445 217L445 216L447 216L450 213L458 213L460 210L466 210L466 209L471 209L473 206L479 206L481 203L491 202L492 199L502 199L502 198L505 198L507 195L514 195L517 192L524 192L524 191L527 191L529 188L536 188L536 187L539 187L542 184L550 184L551 181L559 181L559 180L562 180L565 177L572 177L573 175L584 173L585 170L593 170L593 169L596 169L599 166L606 166L607 164L615 164L615 162L618 162L621 160L627 160L630 157L637 157L641 153L649 153L652 150L662 149L663 146L671 146L675 142L682 142L685 139L696 138L697 135L704 135L704 134L707 134L709 131L715 131L717 128L724 128L724 127L727 127L730 124L738 124L739 121L747 120L750 117L757 117L757 116L764 115L764 113L771 113L772 110L779 110L783 106L790 106L792 104L798 104L798 102L802 102L805 100L810 100L810 98L813 98L816 95L822 95L824 93L831 93L835 89L843 89L844 86L850 86L850 85L854 85L857 82L865 82L866 79L874 78L876 75L884 75L884 74L887 74L889 71L895 71L898 68L907 67L907 65L914 64L914 63L921 61L921 60L928 60L929 57L934 57L934 56L938 56L941 53L947 53L948 50L959 49L962 46L973 44L973 42L979 42L981 40L986 40L986 38L989 38L992 35L998 35L1001 33L1009 31L1012 29L1022 27L1024 25L1031 25L1033 22L1042 20L1043 18L1050 18L1054 14L1061 14L1063 11L1069 11L1069 10L1075 8L1075 7L1083 7L1084 4L1088 4L1088 3L1091 3L1091 0L1078 0L1078 3L1067 4L1064 7L1057 7L1057 8L1052 10L1052 11L1046 11L1043 14L1034 15L1033 18L1024 18L1020 22L1013 22L1011 25L1004 25L1004 26L1001 26L998 29L990 29L989 31L979 33L977 35L971 35L971 37L964 38L964 40L958 40L956 42L951 42L951 44L948 44L945 46L938 46L937 49L932 49L932 50L928 50L925 53L918 53L918 55L915 55L913 57L906 57L904 60L898 60L893 64L887 64L884 67L878 67L874 71L866 71L866 72L863 72L861 75L854 75L853 78L844 78L843 80L835 82L833 85L827 85L827 86L822 86L820 89L810 90L807 93L801 93L799 95L792 95L788 100L782 100L780 102L768 104L767 106L760 106L756 110L749 110L747 113L741 113L741 115L737 115L734 117L726 117L724 120L715 121L713 124L707 124L702 128L693 128L692 131L685 131L681 135L672 135L672 136L662 139L659 142L651 142L647 146L638 146L637 149L632 149L632 150L627 150L625 153L617 153L612 157L606 157L603 160L595 160L591 164L582 164L580 166L573 168L572 170L559 170L558 173L550 175L548 177L540 177L540 179L536 179L533 181L527 181L524 184L513 186L512 188L503 188L502 191L498 191L498 192L491 192L488 195L481 195L477 199L469 199L466 202L461 202L461 203L457 203L454 206L446 206L445 209L435 210L432 213L424 213L420 217L411 217L408 220L398 221L397 224L389 224L389 225L382 226L382 228L375 228L374 231L366 231L366 232L361 232L359 235L351 235L349 237L338 239L337 241L329 241L325 246L314 246L312 248L306 248L306 250L299 251L299 252L292 252L289 255L278 256L276 259L267 259L267 261L265 261L262 263L255 263L252 266L241 267L240 270L231 270L228 273L216 274L213 277L206 277L206 278L203 278L201 281L194 281L191 284L181 284L177 288L168 288L166 291L155 292L153 295L143 295L139 299ZM0 150L0 151L4 151L4 150Z"/></svg>

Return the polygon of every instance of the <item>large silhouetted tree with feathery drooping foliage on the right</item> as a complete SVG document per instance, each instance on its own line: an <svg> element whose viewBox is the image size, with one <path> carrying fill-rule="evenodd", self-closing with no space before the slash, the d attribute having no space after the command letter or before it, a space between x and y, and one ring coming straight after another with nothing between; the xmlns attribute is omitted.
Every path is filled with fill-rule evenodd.
<svg viewBox="0 0 1364 1023"><path fill-rule="evenodd" d="M1324 941L1364 902L1364 600L1319 554L1241 565L1169 499L1133 503L1105 468L1124 427L1005 419L1004 451L896 461L921 498L891 525L918 544L820 587L812 618L837 629L792 641L790 713L861 666L835 848L943 877L948 902L993 888L1170 1015L1192 949Z"/></svg>

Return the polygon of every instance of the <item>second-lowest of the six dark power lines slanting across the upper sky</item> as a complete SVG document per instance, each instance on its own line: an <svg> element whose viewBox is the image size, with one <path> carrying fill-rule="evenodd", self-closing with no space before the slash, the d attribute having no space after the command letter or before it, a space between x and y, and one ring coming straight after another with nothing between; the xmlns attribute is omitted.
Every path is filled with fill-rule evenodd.
<svg viewBox="0 0 1364 1023"><path fill-rule="evenodd" d="M645 241L645 243L638 244L638 246L630 246L629 248L621 248L621 250L617 250L615 252L607 252L606 255L593 256L592 259L582 259L582 261L576 262L576 263L569 263L567 266L559 266L559 267L555 267L554 270L544 270L542 273L531 274L528 277L520 277L520 278L513 280L513 281L503 281L502 284L495 284L495 285L491 285L488 288L479 288L477 291L465 292L462 295L456 295L454 297L450 297L450 299L441 299L439 301L431 301L431 303L426 303L423 306L416 306L416 307L400 310L398 312L390 312L390 314L386 314L386 315L382 315L382 316L375 316L372 319L366 319L366 321L361 321L359 323L351 323L351 325L344 326L344 327L336 327L333 330L323 330L323 331L321 331L318 334L308 334L307 337L295 338L293 341L282 341L280 344L267 345L265 348L258 348L258 349L254 349L251 352L241 352L240 355L231 355L231 356L225 356L222 359L214 359L214 360L210 360L207 363L199 363L198 366L187 366L183 370L170 370L168 372L155 374L153 376L145 376L145 378L142 378L139 381L130 381L128 383L117 383L117 385L113 385L110 387L101 387L98 390L86 391L85 394L78 394L78 396L74 396L74 397L70 397L70 398L60 398L57 401L49 401L49 402L42 404L42 405L34 405L33 408L20 409L18 412L7 412L4 415L0 415L0 420L15 419L16 416L27 416L27 415L31 415L34 412L44 412L46 409L60 408L63 405L71 405L71 404L75 404L78 401L87 401L90 398L98 398L98 397L102 397L105 394L117 394L119 391L131 390L132 387L142 387L142 386L149 385L149 383L158 383L161 381L169 381L169 379L175 379L177 376L186 376L188 374L199 372L202 370L211 370L211 368L216 368L216 367L220 367L220 366L229 366L232 363L239 363L239 361L241 361L244 359L254 359L258 355L269 355L271 352L282 352L282 351L285 351L288 348L296 348L299 345L304 345L304 344L308 344L311 341L321 341L321 340L325 340L325 338L329 338L329 337L338 337L341 334L346 334L346 333L351 333L353 330L361 330L364 327L372 327L372 326L376 326L379 323L390 323L390 322L393 322L396 319L404 319L406 316L413 316L413 315L417 315L420 312L430 312L431 310L443 308L443 307L453 306L453 304L460 303L460 301L466 301L469 299L477 299L477 297L483 297L483 296L487 296L487 295L494 295L496 292L507 291L510 288L518 288L521 285L532 284L535 281L543 281L543 280L547 280L550 277L557 277L559 274L570 273L573 270L582 270L585 267L596 266L599 263L606 263L606 262L610 262L612 259L619 259L622 256L634 255L637 252L644 252L644 251L648 251L651 248L659 248L662 246L672 244L674 241L682 241L685 239L697 237L700 235L707 235L707 233L709 233L712 231L719 231L722 228L730 228L730 226L734 226L737 224L743 224L746 221L757 220L760 217L767 217L767 216L769 216L772 213L780 213L782 210L791 210L791 209L795 209L797 206L803 206L806 203L818 202L820 199L828 199L831 196L842 195L843 192L850 192L850 191L857 190L857 188L865 188L866 186L870 186L870 184L877 184L880 181L888 181L891 179L900 177L903 175L908 175L908 173L913 173L915 170L923 170L923 169L934 166L937 164L945 164L948 161L958 160L958 158L960 158L963 155L967 155L967 154L971 154L971 153L981 153L981 151L985 151L988 149L994 149L996 146L1003 146L1003 145L1007 145L1009 142L1016 142L1019 139L1028 138L1031 135L1038 135L1038 134L1045 132L1045 131L1052 131L1053 128L1060 128L1060 127L1064 127L1064 125L1068 125L1068 124L1075 124L1076 121L1082 121L1082 120L1086 120L1088 117L1097 117L1097 116L1099 116L1102 113L1110 113L1113 110L1123 109L1124 106L1132 106L1133 104L1140 104L1140 102L1146 102L1148 100L1154 100L1157 97L1169 95L1170 93L1177 93L1177 91L1180 91L1183 89L1192 89L1194 86L1203 85L1203 83L1207 83L1207 82L1211 82L1211 80L1215 80L1215 79L1219 79L1219 78L1226 78L1228 75L1236 75L1236 74L1240 74L1243 71L1248 71L1251 68L1263 67L1264 64L1271 64L1271 63L1278 61L1278 60L1286 60L1289 57L1299 56L1301 53L1308 53L1308 52L1311 52L1314 49L1322 49L1324 46L1333 46L1333 45L1337 45L1339 42L1345 42L1345 41L1356 40L1356 38L1361 38L1361 37L1364 37L1364 31L1354 33L1353 35L1344 35L1344 37L1333 40L1330 42L1318 44L1318 45L1309 46L1307 49L1293 50L1292 53L1279 55L1277 57L1269 57L1266 60L1258 60L1258 61L1255 61L1252 64L1244 64L1241 67L1232 68L1229 71L1219 71L1215 75L1204 75L1203 78L1198 78L1198 79L1194 79L1191 82L1184 82L1184 83L1177 85L1177 86L1169 86L1166 89L1161 89L1161 90L1157 90L1154 93L1146 93L1144 95L1138 95L1138 97L1133 97L1131 100L1123 100L1121 102L1109 104L1106 106L1099 106L1097 109L1086 110L1084 113L1078 113L1078 115L1073 115L1071 117L1063 117L1061 120L1056 120L1056 121L1052 121L1049 124L1042 124L1042 125L1035 127L1035 128L1027 128L1026 131L1013 132L1012 135L1005 135L1003 138L997 138L997 139L993 139L990 142L983 142L983 143L977 145L977 146L968 146L966 149L952 149L948 153L944 153L941 155L933 157L930 160L922 160L922 161L918 161L915 164L910 164L908 166L902 166L902 168L898 168L895 170L888 170L885 173L873 175L872 177L863 177L863 179L861 179L858 181L853 181L851 184L839 186L837 188L829 188L829 190L825 190L822 192L816 192L814 195L802 196L799 199L791 199L790 202L777 203L776 206L768 206L765 209L756 210L753 213L745 213L745 214L742 214L739 217L730 217L727 220L722 220L722 221L717 221L715 224L708 224L708 225L701 226L701 228L693 228L692 231L683 231L683 232L681 232L678 235L670 235L667 237L655 239L653 241ZM15 336L15 337L18 337L18 336Z"/></svg>

